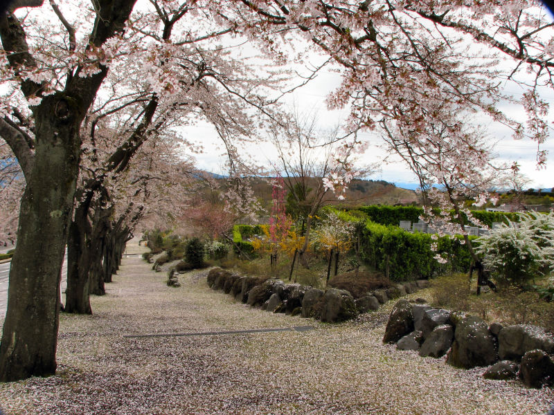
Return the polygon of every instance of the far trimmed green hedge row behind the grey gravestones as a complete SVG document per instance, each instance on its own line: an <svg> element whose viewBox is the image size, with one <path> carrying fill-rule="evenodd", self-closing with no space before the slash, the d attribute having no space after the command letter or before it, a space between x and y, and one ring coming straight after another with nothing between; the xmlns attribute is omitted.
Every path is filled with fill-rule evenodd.
<svg viewBox="0 0 554 415"><path fill-rule="evenodd" d="M423 214L423 209L417 208L415 206L369 205L362 206L358 210L367 214L370 221L379 223L381 225L396 226L398 226L400 221L417 222L419 220L419 217ZM489 227L492 227L493 222L508 223L508 220L512 222L518 221L517 214L511 212L488 212L486 210L473 210L472 214L475 219L481 221L481 223L484 223ZM465 214L462 214L462 216L465 224L467 225L467 217L465 216Z"/></svg>

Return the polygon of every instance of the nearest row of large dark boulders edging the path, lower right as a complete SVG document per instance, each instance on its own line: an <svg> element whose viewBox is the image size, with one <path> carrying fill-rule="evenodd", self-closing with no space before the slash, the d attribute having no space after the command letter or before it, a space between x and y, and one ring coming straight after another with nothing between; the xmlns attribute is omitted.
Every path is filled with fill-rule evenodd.
<svg viewBox="0 0 554 415"><path fill-rule="evenodd" d="M388 317L384 343L446 357L454 367L488 367L483 376L519 377L528 387L554 385L554 338L537 326L488 325L479 317L400 299Z"/></svg>

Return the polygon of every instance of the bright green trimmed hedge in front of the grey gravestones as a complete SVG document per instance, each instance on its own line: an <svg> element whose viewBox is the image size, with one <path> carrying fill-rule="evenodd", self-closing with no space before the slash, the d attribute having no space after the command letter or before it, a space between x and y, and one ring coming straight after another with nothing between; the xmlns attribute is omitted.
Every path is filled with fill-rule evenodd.
<svg viewBox="0 0 554 415"><path fill-rule="evenodd" d="M472 242L476 237L470 237ZM368 221L361 240L361 257L375 269L387 272L392 281L429 278L447 270L467 271L471 257L461 237L438 239L438 251L431 250L431 235L410 233L393 225ZM434 256L443 254L447 264L439 264Z"/></svg>

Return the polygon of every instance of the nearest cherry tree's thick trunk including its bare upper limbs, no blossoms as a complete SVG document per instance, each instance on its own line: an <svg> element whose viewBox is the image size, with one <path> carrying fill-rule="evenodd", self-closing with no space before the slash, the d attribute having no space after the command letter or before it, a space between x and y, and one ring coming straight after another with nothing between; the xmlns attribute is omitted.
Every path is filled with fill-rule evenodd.
<svg viewBox="0 0 554 415"><path fill-rule="evenodd" d="M135 0L98 0L92 46L125 30ZM26 33L11 12L0 15L0 37L10 67L37 67ZM64 247L80 162L80 125L107 68L90 76L67 77L64 92L42 95L44 85L23 77L21 92L41 96L33 106L33 145L12 140L24 169L26 190L21 198L19 240L12 258L8 310L0 342L0 381L46 376L56 369L55 352L60 313L60 279ZM26 150L23 149L26 147ZM34 147L34 154L31 151Z"/></svg>

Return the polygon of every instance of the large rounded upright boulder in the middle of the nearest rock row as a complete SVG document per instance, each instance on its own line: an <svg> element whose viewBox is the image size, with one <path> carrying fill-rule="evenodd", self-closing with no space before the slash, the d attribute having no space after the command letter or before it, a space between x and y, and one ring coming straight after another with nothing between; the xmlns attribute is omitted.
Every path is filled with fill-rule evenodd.
<svg viewBox="0 0 554 415"><path fill-rule="evenodd" d="M471 369L477 366L490 366L497 359L497 342L489 333L487 323L472 315L458 322L454 330L454 343L448 353L449 365Z"/></svg>

